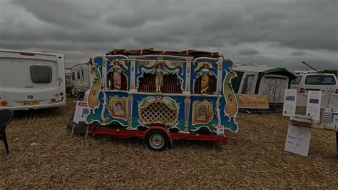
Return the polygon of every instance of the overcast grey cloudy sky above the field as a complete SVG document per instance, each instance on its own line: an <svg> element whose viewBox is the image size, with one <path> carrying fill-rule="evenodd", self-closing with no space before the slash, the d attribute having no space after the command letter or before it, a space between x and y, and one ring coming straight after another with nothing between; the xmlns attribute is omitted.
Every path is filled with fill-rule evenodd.
<svg viewBox="0 0 338 190"><path fill-rule="evenodd" d="M0 48L65 55L112 49L218 51L237 64L338 69L338 0L0 0Z"/></svg>

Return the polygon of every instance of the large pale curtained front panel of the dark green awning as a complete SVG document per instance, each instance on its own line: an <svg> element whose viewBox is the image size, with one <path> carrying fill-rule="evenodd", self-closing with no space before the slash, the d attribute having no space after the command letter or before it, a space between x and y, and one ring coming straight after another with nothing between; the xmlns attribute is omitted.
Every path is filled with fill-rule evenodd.
<svg viewBox="0 0 338 190"><path fill-rule="evenodd" d="M288 84L287 76L267 74L260 80L259 94L268 94L269 103L283 103Z"/></svg>

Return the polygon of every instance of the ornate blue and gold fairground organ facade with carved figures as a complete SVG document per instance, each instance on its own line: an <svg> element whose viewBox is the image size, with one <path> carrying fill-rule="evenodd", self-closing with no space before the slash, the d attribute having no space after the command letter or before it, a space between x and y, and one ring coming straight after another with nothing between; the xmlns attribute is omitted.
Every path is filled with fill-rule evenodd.
<svg viewBox="0 0 338 190"><path fill-rule="evenodd" d="M238 131L231 79L234 62L223 56L105 54L91 59L89 124L130 130Z"/></svg>

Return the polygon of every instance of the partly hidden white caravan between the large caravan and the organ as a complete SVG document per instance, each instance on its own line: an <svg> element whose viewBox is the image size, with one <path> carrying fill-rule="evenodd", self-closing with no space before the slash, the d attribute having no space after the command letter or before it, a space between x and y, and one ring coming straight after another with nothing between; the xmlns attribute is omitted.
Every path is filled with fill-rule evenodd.
<svg viewBox="0 0 338 190"><path fill-rule="evenodd" d="M91 87L91 74L89 64L78 64L71 67L71 94L83 97Z"/></svg>

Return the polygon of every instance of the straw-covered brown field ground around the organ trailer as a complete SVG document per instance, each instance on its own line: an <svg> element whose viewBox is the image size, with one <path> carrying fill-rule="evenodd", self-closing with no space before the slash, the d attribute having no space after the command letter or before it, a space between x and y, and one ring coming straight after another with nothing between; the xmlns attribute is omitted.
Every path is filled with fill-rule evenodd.
<svg viewBox="0 0 338 190"><path fill-rule="evenodd" d="M64 108L15 112L6 129L11 154L0 152L0 189L338 186L335 134L312 131L308 157L288 153L288 119L280 114L239 114L240 131L227 133L227 146L180 141L155 152L135 139L71 139L74 106L68 99Z"/></svg>

